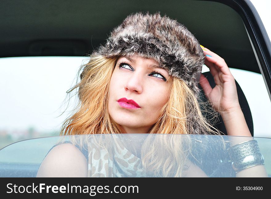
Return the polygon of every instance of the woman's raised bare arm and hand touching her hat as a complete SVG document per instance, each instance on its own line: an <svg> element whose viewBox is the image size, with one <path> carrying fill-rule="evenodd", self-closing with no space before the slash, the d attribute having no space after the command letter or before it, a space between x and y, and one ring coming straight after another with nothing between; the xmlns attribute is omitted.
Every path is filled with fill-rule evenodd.
<svg viewBox="0 0 271 199"><path fill-rule="evenodd" d="M202 49L206 55L205 65L209 67L216 86L212 88L204 75L200 77L200 85L213 108L221 113L227 134L229 136L244 136L230 138L231 146L252 140L238 101L235 79L229 67L219 55L205 47ZM263 165L256 165L238 172L236 177L267 177L267 173Z"/></svg>

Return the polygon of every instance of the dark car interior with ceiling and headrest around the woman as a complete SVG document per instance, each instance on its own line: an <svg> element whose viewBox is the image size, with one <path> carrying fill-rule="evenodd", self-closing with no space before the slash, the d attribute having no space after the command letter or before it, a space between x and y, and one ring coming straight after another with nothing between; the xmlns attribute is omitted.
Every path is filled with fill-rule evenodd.
<svg viewBox="0 0 271 199"><path fill-rule="evenodd" d="M248 34L238 3L223 0L162 1L5 1L0 13L0 58L27 56L86 56L129 14L160 11L184 24L200 44L223 57L231 68L263 74L263 59L255 55L253 38ZM261 36L261 35L260 35ZM266 59L270 59L267 57ZM260 62L259 62L260 60ZM269 60L270 61L270 60ZM210 72L205 72L210 85L215 86ZM265 78L270 87L270 78ZM246 96L239 84L237 92L246 122L253 136L252 114ZM200 99L207 101L201 91ZM211 111L211 109L209 109ZM212 118L205 113L208 120ZM223 120L210 120L227 135ZM231 165L229 165L231 166ZM211 171L210 171L211 172ZM213 171L212 171L213 172ZM208 173L208 171L207 171ZM31 174L32 175L32 174ZM34 174L33 174L34 175Z"/></svg>

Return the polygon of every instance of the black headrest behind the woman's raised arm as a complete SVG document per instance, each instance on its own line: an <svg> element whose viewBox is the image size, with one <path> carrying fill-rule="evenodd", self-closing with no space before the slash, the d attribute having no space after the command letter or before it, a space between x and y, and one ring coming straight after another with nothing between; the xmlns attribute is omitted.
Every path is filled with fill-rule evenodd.
<svg viewBox="0 0 271 199"><path fill-rule="evenodd" d="M203 73L203 75L208 79L209 83L210 83L210 86L212 88L215 87L215 81L214 81L214 78L212 76L212 74L210 72L205 72ZM239 86L239 84L237 83L237 81L235 80L235 83L236 83L236 87L237 87L237 94L238 94L238 99L239 99L239 104L241 106L241 109L244 113L244 116L245 116L245 120L246 120L246 123L249 127L249 131L251 133L251 135L253 136L253 120L252 120L252 115L251 115L251 112L250 112L250 108L249 108L249 104L248 104L248 101L245 97L245 94L244 92L242 91L241 87ZM203 101L203 102L207 102L207 98L206 96L204 95L204 91L202 90L202 88L200 87L199 85L199 88L201 90L201 93L200 93L200 99ZM207 112L204 111L204 108L203 106L201 105L201 109L203 110L203 115L210 121L210 123L215 127L217 128L218 130L220 130L221 132L223 132L225 135L227 135L227 131L226 131L226 128L225 128L225 125L224 125L224 122L222 120L222 117L219 116L219 120L215 121L215 120L212 120L212 114L208 113L208 112L211 112L211 108L210 108L210 104L208 104L209 107L207 107Z"/></svg>

